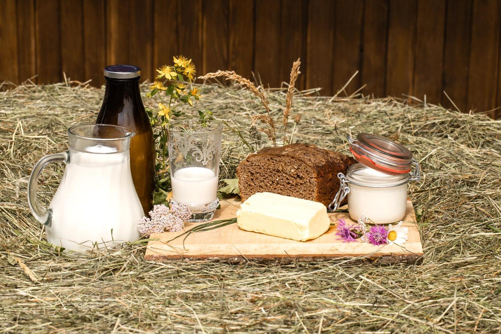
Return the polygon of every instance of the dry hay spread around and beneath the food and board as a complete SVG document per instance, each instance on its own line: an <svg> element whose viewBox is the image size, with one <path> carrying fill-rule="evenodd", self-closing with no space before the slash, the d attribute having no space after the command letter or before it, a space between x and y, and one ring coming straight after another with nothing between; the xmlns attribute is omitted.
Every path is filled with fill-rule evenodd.
<svg viewBox="0 0 501 334"><path fill-rule="evenodd" d="M34 163L65 150L66 129L97 115L104 90L70 86L26 84L0 93L5 331L501 331L501 122L391 98L296 94L293 112L303 119L295 140L347 152L350 132L399 134L416 153L424 177L410 187L410 196L420 216L422 265L361 265L347 258L156 263L144 261L145 243L70 258L40 242L44 231L26 194ZM200 104L239 129L261 112L245 90L203 89ZM278 119L285 90L269 96ZM231 178L246 154L226 133L222 177ZM44 172L46 200L62 168L52 164Z"/></svg>

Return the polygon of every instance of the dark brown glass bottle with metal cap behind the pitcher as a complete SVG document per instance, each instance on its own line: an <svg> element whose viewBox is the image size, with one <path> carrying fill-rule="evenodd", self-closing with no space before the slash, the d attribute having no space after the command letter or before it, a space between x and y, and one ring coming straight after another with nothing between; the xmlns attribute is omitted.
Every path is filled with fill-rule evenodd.
<svg viewBox="0 0 501 334"><path fill-rule="evenodd" d="M96 123L119 125L136 133L130 142L130 170L147 214L153 207L155 190L155 144L139 92L141 69L132 65L112 65L104 69L104 76L106 91Z"/></svg>

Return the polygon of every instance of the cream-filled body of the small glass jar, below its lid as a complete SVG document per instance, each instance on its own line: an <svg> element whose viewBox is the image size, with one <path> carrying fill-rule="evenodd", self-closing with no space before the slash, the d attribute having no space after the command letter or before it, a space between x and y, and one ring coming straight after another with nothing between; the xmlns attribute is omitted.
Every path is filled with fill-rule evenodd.
<svg viewBox="0 0 501 334"><path fill-rule="evenodd" d="M388 224L405 216L409 174L388 175L356 163L348 168L346 180L351 219L365 214L377 224Z"/></svg>

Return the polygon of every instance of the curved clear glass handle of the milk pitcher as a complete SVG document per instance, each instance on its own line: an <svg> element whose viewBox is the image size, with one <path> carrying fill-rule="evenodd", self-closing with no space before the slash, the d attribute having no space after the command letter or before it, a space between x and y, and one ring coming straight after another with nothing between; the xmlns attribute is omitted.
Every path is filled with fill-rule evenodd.
<svg viewBox="0 0 501 334"><path fill-rule="evenodd" d="M44 208L40 202L37 200L37 187L38 179L45 166L50 162L63 161L68 163L68 152L54 153L44 156L37 162L32 174L30 175L30 181L28 182L28 205L33 213L33 216L44 225L49 225L52 220L52 209Z"/></svg>

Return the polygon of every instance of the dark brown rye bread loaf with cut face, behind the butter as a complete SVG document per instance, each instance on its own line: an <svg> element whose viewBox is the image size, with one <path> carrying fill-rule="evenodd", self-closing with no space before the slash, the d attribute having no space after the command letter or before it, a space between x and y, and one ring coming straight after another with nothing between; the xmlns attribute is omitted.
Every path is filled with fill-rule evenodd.
<svg viewBox="0 0 501 334"><path fill-rule="evenodd" d="M270 192L328 206L339 189L338 173L356 161L315 145L267 147L247 156L236 168L240 197Z"/></svg>

